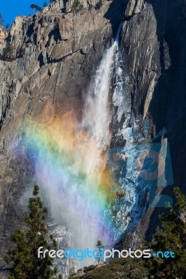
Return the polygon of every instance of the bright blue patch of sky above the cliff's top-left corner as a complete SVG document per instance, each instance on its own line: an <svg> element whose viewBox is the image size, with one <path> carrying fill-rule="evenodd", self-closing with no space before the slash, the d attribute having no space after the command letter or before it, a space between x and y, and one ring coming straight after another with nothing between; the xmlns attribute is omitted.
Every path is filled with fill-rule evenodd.
<svg viewBox="0 0 186 279"><path fill-rule="evenodd" d="M49 2L49 0L3 0L0 13L3 15L4 26L7 23L12 24L17 15L31 15L33 11L29 6L31 4L43 6L44 1Z"/></svg>

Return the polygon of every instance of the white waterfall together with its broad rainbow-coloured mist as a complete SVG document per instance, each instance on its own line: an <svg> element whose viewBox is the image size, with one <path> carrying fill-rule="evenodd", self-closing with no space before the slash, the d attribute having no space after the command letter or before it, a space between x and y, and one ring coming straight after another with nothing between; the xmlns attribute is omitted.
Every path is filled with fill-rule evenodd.
<svg viewBox="0 0 186 279"><path fill-rule="evenodd" d="M68 112L55 115L47 126L32 120L24 125L25 137L20 146L34 165L34 179L55 219L51 232L63 250L94 250L98 240L105 245L112 243L112 216L106 218L110 204L106 167L111 120L108 96L121 28L122 24L90 81L81 123L73 112ZM93 263L94 259L85 259L77 268ZM71 265L70 260L59 263L66 274L65 266L69 269Z"/></svg>

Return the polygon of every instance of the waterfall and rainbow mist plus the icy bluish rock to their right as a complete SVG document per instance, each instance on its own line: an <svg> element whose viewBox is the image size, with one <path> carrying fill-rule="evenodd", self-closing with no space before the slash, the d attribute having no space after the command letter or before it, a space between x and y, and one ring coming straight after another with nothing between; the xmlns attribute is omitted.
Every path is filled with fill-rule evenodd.
<svg viewBox="0 0 186 279"><path fill-rule="evenodd" d="M82 121L77 120L74 112L59 112L49 103L44 114L51 115L51 107L57 113L49 122L28 117L14 144L15 153L27 158L34 169L34 180L41 186L42 197L50 209L50 232L62 250L94 250L98 240L106 248L113 248L124 231L138 223L147 206L149 187L144 188L138 179L143 166L142 161L137 161L141 147L133 146L133 130L128 128L131 100L124 90L127 75L118 42L121 28L122 24L85 92ZM110 149L110 91L117 107L117 122L123 113L125 119L115 137L126 140L127 151L125 146ZM90 264L94 264L94 259L88 257L82 262L57 260L64 276L73 266L78 269Z"/></svg>

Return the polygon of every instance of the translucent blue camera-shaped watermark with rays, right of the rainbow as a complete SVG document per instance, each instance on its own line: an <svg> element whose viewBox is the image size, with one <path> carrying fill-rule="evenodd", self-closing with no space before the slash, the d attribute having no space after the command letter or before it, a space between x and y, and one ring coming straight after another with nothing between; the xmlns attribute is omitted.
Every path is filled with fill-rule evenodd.
<svg viewBox="0 0 186 279"><path fill-rule="evenodd" d="M148 142L148 127L149 122L144 121L145 143L136 144L141 143L142 139L131 128L128 137L129 141L135 144L108 150L111 189L116 193L124 191L126 203L129 200L133 201L131 211L138 211L141 208L139 201L141 195L148 197L149 206L164 207L166 204L169 206L173 204L173 199L169 195L159 194L162 188L173 184L169 142L167 139L154 142L166 133L166 129L163 128Z"/></svg>

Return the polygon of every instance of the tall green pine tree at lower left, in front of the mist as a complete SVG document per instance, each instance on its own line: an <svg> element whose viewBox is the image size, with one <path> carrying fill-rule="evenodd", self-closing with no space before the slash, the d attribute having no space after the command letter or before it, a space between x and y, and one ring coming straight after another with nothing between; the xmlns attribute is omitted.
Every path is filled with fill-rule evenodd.
<svg viewBox="0 0 186 279"><path fill-rule="evenodd" d="M57 269L53 259L46 253L45 258L38 257L38 248L57 250L57 243L52 235L48 239L48 228L45 225L47 209L38 196L39 188L34 186L33 197L29 199L29 214L24 216L27 229L15 229L11 239L15 248L8 250L4 259L12 266L8 279L54 279Z"/></svg>

